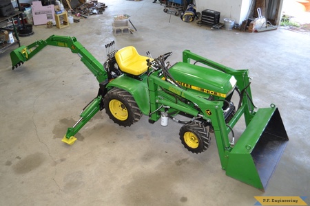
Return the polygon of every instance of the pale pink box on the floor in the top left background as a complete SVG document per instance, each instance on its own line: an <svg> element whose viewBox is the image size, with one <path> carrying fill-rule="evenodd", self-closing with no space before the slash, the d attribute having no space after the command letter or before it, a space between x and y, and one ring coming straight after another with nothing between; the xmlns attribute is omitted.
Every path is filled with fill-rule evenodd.
<svg viewBox="0 0 310 206"><path fill-rule="evenodd" d="M42 25L48 23L48 21L55 21L53 4L43 6L41 1L32 1L31 9L34 25Z"/></svg>

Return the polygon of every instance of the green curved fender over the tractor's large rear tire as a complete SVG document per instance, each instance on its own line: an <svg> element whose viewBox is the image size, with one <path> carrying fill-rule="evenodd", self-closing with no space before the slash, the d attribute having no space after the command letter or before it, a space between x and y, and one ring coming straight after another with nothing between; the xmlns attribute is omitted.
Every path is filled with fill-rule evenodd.
<svg viewBox="0 0 310 206"><path fill-rule="evenodd" d="M143 115L149 115L149 91L146 80L137 80L128 76L119 76L107 84L107 90L118 87L129 92Z"/></svg>

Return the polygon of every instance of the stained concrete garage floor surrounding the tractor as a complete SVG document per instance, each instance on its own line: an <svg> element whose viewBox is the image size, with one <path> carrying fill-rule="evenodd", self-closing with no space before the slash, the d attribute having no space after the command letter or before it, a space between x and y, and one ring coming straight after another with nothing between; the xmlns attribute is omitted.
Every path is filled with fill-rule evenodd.
<svg viewBox="0 0 310 206"><path fill-rule="evenodd" d="M47 47L12 71L0 54L0 205L254 205L254 196L309 196L310 36L278 29L262 33L210 30L163 12L159 3L111 1L102 15L62 30L35 26L29 45L52 34L76 36L100 62L105 43L134 45L152 56L183 49L235 69L249 69L254 103L278 106L289 144L267 191L221 170L216 141L200 155L180 143L180 124L147 117L121 128L105 111L68 146L61 142L96 96L96 79L69 49ZM114 36L112 17L129 14L134 34ZM310 198L306 199L310 204Z"/></svg>

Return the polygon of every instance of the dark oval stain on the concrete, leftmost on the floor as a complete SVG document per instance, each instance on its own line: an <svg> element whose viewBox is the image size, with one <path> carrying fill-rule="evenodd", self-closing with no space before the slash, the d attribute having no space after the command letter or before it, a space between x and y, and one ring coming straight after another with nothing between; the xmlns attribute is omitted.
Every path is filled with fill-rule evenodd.
<svg viewBox="0 0 310 206"><path fill-rule="evenodd" d="M25 174L39 168L40 165L44 162L45 157L43 153L36 152L32 155L28 155L25 158L22 158L17 163L12 165L12 168L17 174Z"/></svg>

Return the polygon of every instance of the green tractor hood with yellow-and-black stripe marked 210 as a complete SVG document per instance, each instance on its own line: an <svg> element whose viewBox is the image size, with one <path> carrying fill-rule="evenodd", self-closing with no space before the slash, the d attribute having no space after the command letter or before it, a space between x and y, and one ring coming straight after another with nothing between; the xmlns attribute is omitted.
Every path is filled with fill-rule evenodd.
<svg viewBox="0 0 310 206"><path fill-rule="evenodd" d="M227 73L178 62L169 68L169 73L183 87L226 98L236 87L236 78Z"/></svg>

